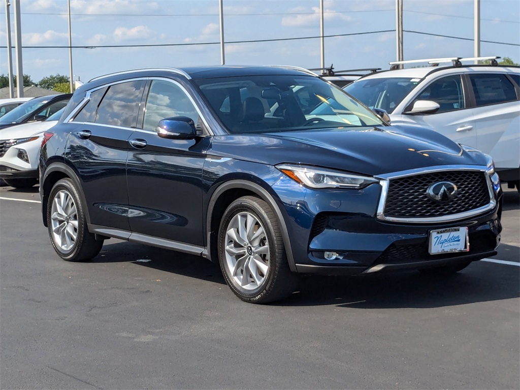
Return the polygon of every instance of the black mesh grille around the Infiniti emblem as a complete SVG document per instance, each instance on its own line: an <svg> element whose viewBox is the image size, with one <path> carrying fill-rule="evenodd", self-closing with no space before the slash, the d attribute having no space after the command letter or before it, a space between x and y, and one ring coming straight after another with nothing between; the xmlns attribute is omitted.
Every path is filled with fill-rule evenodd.
<svg viewBox="0 0 520 390"><path fill-rule="evenodd" d="M489 204L487 173L482 171L444 171L391 179L384 216L427 218L464 213ZM457 195L446 202L427 196L428 187L438 181L451 181Z"/></svg>

